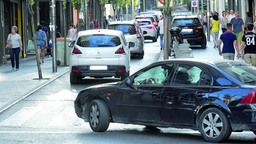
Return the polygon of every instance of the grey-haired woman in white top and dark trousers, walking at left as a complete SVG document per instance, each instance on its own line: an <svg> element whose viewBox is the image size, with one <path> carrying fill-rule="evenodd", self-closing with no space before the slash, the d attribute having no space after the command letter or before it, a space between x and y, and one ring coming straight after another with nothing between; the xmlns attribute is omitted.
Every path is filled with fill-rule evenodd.
<svg viewBox="0 0 256 144"><path fill-rule="evenodd" d="M16 26L13 26L11 29L11 34L8 35L6 43L8 44L6 46L7 49L10 51L10 57L11 57L11 62L12 62L12 70L14 70L14 58L16 62L16 71L19 70L19 54L20 51L22 51L22 42L21 42L21 37L19 34L16 32L18 31L18 28Z"/></svg>

